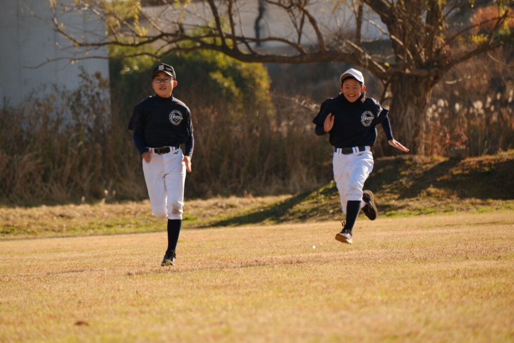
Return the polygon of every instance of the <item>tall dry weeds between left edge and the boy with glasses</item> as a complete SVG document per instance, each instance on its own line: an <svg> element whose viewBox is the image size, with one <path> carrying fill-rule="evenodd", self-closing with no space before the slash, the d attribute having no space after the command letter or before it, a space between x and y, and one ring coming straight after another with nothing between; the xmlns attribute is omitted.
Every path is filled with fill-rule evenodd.
<svg viewBox="0 0 514 343"><path fill-rule="evenodd" d="M99 199L114 191L113 180L123 179L119 167L128 161L122 150L114 152L115 137L110 133L116 129L109 117L108 84L99 74L80 77L77 91L54 87L44 99L29 97L0 111L4 203ZM131 169L123 168L123 173L130 174Z"/></svg>

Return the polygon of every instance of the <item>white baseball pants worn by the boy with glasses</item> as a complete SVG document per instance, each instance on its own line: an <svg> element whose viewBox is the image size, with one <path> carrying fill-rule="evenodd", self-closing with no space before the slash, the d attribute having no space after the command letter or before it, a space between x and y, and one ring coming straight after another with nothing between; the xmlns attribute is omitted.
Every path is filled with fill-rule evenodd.
<svg viewBox="0 0 514 343"><path fill-rule="evenodd" d="M142 159L152 213L157 218L182 219L186 182L186 163L183 158L180 148L171 148L169 153L162 155L152 150L150 163Z"/></svg>

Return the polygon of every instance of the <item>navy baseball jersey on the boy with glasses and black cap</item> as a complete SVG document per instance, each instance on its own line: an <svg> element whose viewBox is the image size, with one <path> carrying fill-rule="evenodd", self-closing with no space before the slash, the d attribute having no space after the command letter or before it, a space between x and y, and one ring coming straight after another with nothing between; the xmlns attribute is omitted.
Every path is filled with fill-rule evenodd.
<svg viewBox="0 0 514 343"><path fill-rule="evenodd" d="M134 136L142 139L144 147L173 147L186 143L185 155L193 153L191 112L185 103L173 96L153 95L139 102L134 107L128 129L134 130ZM137 148L140 150L140 146Z"/></svg>

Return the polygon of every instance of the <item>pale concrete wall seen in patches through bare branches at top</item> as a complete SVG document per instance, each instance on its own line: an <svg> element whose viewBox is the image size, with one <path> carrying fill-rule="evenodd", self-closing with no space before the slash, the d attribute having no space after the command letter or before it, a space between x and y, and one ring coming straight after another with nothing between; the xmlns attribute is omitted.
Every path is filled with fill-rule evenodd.
<svg viewBox="0 0 514 343"><path fill-rule="evenodd" d="M222 5L222 2L216 1L216 3L218 4L219 12L224 13L226 8ZM315 16L320 30L325 34L326 40L334 32L341 32L343 35L347 35L348 38L354 37L356 21L348 3L350 2L319 0L315 4L307 6L308 10ZM237 10L240 16L236 18L235 25L238 34L244 33L247 37L255 37L255 20L259 15L258 8L258 0L241 0L237 2ZM186 9L162 5L144 7L143 11L163 31L167 32L176 31L178 27L175 23L180 21L183 21L183 28L186 30L195 25L205 25L208 22L212 22L212 12L205 1L193 2ZM263 14L260 21L261 38L281 37L292 39L293 41L298 39L298 34L292 27L286 10L268 4ZM375 25L368 21L363 22L362 39L374 40L383 38L383 31L386 30L386 27L381 23L380 17L367 6L364 7L364 17L373 21ZM377 28L376 25L380 25L381 28ZM152 31L151 28L150 30ZM307 22L307 19L305 19L301 43L305 45L317 44L316 33ZM288 45L276 41L266 42L258 50L280 52L284 49L289 50L290 48L288 47ZM244 47L242 46L242 48Z"/></svg>

